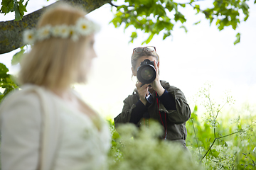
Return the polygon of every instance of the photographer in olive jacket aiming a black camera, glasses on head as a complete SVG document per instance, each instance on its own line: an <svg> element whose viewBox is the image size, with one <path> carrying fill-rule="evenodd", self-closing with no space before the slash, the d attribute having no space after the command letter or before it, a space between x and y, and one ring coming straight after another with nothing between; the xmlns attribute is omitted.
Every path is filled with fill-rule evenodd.
<svg viewBox="0 0 256 170"><path fill-rule="evenodd" d="M141 126L154 119L164 127L163 140L180 142L186 147L186 121L191 110L180 89L160 81L156 47L134 48L132 74L138 79L137 89L124 99L122 113L114 118L115 126L122 123Z"/></svg>

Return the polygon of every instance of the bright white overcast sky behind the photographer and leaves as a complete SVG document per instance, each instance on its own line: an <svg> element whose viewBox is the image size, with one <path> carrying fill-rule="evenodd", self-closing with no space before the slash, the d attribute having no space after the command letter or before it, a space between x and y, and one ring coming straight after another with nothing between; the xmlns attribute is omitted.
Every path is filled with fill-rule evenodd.
<svg viewBox="0 0 256 170"><path fill-rule="evenodd" d="M28 12L41 6L47 6L53 0L33 0L28 2ZM1 3L1 1L0 1ZM225 28L218 31L204 16L195 16L192 8L186 8L183 14L188 33L179 25L174 28L172 38L162 40L156 36L148 45L156 47L160 57L160 78L183 91L193 106L193 97L203 84L210 81L213 85L211 95L215 101L225 96L225 91L235 98L235 107L242 103L256 105L256 5L250 1L250 17L241 22L238 30ZM204 4L207 5L207 4ZM87 15L99 23L101 31L95 36L97 58L86 85L76 86L85 101L103 116L114 118L122 111L122 101L135 88L132 81L130 58L134 47L141 45L147 35L139 33L134 43L128 43L132 28L124 32L122 28L114 28L109 24L113 18L109 4L92 11ZM14 13L4 16L0 21L14 19ZM201 21L197 26L193 23ZM240 32L241 40L233 45L235 35ZM0 55L0 62L6 64L10 73L18 71L11 66L11 57L18 52Z"/></svg>

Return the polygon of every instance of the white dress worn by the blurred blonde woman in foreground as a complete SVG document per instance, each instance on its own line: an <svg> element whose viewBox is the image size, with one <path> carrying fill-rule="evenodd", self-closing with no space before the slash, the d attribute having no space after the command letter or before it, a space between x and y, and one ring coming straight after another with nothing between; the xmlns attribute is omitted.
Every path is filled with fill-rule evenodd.
<svg viewBox="0 0 256 170"><path fill-rule="evenodd" d="M111 137L102 118L89 118L41 87L29 85L23 89L0 105L1 170L107 169ZM42 104L42 96L47 105ZM47 119L56 119L51 118L55 113L58 123L48 123ZM46 131L52 137L46 137ZM48 151L42 156L45 149Z"/></svg>

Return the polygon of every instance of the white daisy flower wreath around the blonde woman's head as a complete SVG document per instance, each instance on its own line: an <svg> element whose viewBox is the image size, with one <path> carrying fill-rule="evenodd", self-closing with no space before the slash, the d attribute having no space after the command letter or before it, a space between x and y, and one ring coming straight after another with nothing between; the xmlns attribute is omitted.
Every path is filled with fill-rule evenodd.
<svg viewBox="0 0 256 170"><path fill-rule="evenodd" d="M56 38L71 38L77 41L80 36L90 35L91 33L98 32L100 26L86 18L79 18L75 26L44 26L42 28L25 30L23 33L23 41L26 44L33 44L37 41L46 40L50 37Z"/></svg>

